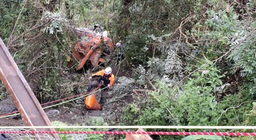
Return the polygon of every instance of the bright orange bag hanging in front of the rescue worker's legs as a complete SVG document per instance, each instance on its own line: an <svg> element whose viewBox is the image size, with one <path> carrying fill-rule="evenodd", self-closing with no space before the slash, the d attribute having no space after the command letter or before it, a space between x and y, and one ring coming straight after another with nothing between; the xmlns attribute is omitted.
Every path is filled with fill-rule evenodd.
<svg viewBox="0 0 256 140"><path fill-rule="evenodd" d="M100 110L100 105L96 101L95 95L88 95L84 99L84 104L86 105L87 109L90 110Z"/></svg>

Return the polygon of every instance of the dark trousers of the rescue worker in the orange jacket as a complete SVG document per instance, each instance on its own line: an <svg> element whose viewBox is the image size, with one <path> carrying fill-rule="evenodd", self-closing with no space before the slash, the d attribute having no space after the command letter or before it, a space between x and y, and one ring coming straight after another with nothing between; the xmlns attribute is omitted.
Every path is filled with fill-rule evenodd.
<svg viewBox="0 0 256 140"><path fill-rule="evenodd" d="M99 84L99 82L97 80L93 80L92 82L90 82L90 84L88 85L88 88L87 88L87 92L90 92L93 87L97 87L98 84ZM100 88L104 88L104 87L106 87L106 86L105 85L100 86ZM104 88L101 90L101 96L100 96L100 100L99 100L100 104L103 104L105 102L106 95L107 95L107 88Z"/></svg>

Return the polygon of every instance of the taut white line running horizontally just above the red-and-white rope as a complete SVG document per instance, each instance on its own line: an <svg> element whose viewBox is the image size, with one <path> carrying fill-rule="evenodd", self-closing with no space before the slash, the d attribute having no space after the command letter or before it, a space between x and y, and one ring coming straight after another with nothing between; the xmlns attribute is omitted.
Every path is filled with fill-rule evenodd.
<svg viewBox="0 0 256 140"><path fill-rule="evenodd" d="M256 129L256 126L0 126L0 128L156 128L156 129Z"/></svg>

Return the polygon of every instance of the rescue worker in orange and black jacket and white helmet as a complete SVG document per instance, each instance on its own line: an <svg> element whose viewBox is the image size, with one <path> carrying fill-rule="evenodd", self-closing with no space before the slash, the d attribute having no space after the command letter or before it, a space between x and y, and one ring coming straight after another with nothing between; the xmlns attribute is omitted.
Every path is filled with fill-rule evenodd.
<svg viewBox="0 0 256 140"><path fill-rule="evenodd" d="M105 69L102 69L96 73L93 73L88 79L90 80L91 78L94 78L94 77L99 77L99 79L93 80L92 82L90 82L90 84L87 88L87 92L90 92L93 87L97 87L98 84L102 81L103 83L100 86L100 88L107 87L107 88L104 88L103 90L101 90L101 97L100 97L99 103L103 104L106 99L108 87L113 86L114 74L112 74L111 67L106 67Z"/></svg>

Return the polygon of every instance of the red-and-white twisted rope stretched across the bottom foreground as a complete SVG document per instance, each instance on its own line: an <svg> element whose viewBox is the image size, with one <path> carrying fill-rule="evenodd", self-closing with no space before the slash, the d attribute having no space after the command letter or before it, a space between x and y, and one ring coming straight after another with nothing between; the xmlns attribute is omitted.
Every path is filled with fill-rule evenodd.
<svg viewBox="0 0 256 140"><path fill-rule="evenodd" d="M0 133L58 133L58 134L158 134L158 135L225 135L256 136L256 132L172 132L172 131L0 131Z"/></svg>

